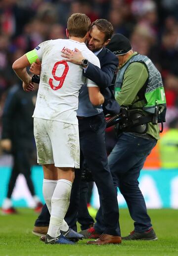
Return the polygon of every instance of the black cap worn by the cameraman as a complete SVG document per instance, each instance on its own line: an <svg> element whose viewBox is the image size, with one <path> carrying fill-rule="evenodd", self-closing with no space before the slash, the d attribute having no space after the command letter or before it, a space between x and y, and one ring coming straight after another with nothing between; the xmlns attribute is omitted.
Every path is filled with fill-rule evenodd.
<svg viewBox="0 0 178 256"><path fill-rule="evenodd" d="M132 50L129 39L122 34L113 35L106 48L116 55L124 55Z"/></svg>

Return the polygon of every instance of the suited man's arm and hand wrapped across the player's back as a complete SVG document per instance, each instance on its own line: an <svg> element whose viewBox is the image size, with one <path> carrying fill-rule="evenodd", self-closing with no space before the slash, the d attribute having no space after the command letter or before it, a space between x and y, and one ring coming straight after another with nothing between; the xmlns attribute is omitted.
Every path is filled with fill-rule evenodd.
<svg viewBox="0 0 178 256"><path fill-rule="evenodd" d="M75 50L76 52L73 52L70 49L66 49L67 52L61 51L61 56L66 58L66 61L81 65L82 60L85 58L78 49ZM84 68L84 76L89 78L100 88L106 88L111 85L114 73L119 63L118 58L110 51L108 51L108 56L106 58L107 61L104 65L101 65L101 69L90 62L88 66Z"/></svg>

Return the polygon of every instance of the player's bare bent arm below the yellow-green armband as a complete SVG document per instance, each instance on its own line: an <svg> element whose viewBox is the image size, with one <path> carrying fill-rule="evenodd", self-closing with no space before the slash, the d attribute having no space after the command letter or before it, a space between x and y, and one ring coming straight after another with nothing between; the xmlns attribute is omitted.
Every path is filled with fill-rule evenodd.
<svg viewBox="0 0 178 256"><path fill-rule="evenodd" d="M12 64L12 69L16 73L17 77L20 78L20 80L23 81L23 89L25 91L32 91L34 90L34 85L31 82L32 79L27 73L27 67L30 66L30 63L27 59L26 55L23 55L19 59L17 59L13 64Z"/></svg>

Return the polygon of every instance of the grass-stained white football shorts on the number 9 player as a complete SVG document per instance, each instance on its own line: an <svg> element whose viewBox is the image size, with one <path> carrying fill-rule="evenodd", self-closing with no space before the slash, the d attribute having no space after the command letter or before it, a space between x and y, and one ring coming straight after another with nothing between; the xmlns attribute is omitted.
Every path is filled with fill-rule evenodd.
<svg viewBox="0 0 178 256"><path fill-rule="evenodd" d="M40 165L80 168L78 125L35 117L34 136Z"/></svg>

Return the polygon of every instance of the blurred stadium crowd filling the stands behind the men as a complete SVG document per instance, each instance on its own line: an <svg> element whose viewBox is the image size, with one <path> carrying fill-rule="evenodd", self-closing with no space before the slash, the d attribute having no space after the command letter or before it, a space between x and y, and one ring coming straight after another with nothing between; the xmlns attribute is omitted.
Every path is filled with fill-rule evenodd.
<svg viewBox="0 0 178 256"><path fill-rule="evenodd" d="M1 0L0 116L7 90L19 83L14 60L42 41L65 38L75 12L108 19L134 51L151 58L163 77L168 126L178 117L178 0Z"/></svg>

